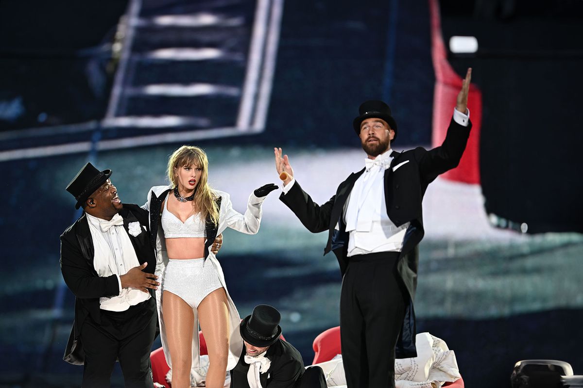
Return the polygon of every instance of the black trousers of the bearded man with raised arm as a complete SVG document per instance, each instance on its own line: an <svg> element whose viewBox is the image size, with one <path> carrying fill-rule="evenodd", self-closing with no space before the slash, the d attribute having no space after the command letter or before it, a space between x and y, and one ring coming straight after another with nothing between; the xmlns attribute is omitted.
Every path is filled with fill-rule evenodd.
<svg viewBox="0 0 583 388"><path fill-rule="evenodd" d="M409 294L399 252L348 258L340 291L340 343L349 388L395 387L395 346Z"/></svg>

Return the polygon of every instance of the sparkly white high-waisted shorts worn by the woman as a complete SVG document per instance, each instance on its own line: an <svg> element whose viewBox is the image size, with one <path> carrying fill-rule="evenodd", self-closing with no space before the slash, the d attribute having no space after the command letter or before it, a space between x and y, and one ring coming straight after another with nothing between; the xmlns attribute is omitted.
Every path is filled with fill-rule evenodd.
<svg viewBox="0 0 583 388"><path fill-rule="evenodd" d="M164 273L163 291L182 298L190 307L198 308L212 291L223 287L215 266L200 259L170 259Z"/></svg>

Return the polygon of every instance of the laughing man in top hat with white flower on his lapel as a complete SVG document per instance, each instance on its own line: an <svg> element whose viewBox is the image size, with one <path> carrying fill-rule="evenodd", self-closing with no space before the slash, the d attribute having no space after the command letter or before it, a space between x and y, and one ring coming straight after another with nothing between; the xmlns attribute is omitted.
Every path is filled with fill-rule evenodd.
<svg viewBox="0 0 583 388"><path fill-rule="evenodd" d="M110 386L116 360L126 387L152 387L160 283L148 212L122 205L110 176L87 163L66 188L85 212L61 236L61 272L75 294L64 360L84 366L84 388Z"/></svg>

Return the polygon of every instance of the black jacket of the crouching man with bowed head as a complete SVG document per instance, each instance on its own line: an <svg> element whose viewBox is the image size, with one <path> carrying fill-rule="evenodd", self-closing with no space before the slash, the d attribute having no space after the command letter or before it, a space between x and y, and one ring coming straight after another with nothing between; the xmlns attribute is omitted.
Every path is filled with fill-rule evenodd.
<svg viewBox="0 0 583 388"><path fill-rule="evenodd" d="M231 369L231 388L249 388L247 372L249 364L245 362L245 347L235 368ZM290 343L278 339L265 353L271 360L269 369L259 375L263 388L294 388L304 374L304 361L300 352Z"/></svg>

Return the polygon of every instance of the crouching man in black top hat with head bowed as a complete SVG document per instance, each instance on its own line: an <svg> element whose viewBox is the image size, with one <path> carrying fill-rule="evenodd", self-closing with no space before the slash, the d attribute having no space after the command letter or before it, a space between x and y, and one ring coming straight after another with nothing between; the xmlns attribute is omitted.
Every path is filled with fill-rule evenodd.
<svg viewBox="0 0 583 388"><path fill-rule="evenodd" d="M279 311L260 304L241 321L244 347L231 370L231 388L325 388L319 366L308 368L300 352L280 339Z"/></svg>

